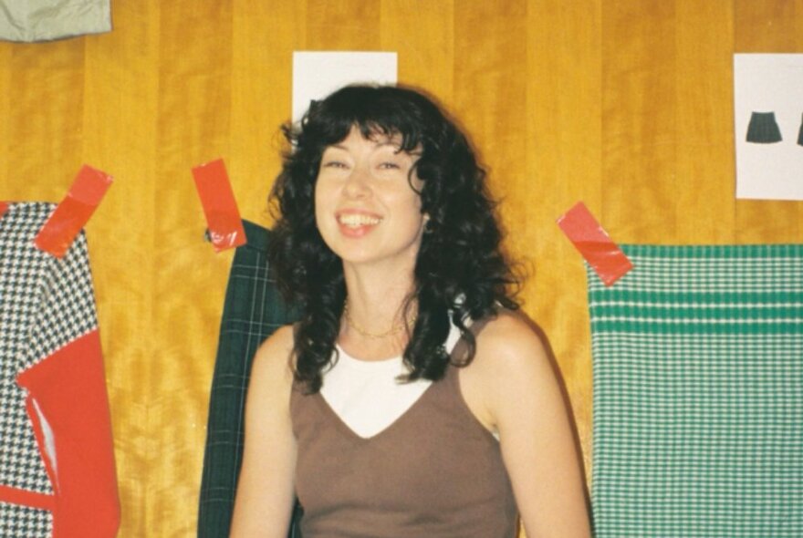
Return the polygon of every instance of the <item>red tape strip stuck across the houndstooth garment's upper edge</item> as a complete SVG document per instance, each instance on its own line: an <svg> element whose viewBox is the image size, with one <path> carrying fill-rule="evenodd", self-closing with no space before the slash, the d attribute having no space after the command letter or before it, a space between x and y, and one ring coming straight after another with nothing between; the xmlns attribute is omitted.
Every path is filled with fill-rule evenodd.
<svg viewBox="0 0 803 538"><path fill-rule="evenodd" d="M36 247L57 258L64 256L81 228L98 209L111 181L109 174L85 164L78 171L67 196L50 213L47 222L34 238Z"/></svg>

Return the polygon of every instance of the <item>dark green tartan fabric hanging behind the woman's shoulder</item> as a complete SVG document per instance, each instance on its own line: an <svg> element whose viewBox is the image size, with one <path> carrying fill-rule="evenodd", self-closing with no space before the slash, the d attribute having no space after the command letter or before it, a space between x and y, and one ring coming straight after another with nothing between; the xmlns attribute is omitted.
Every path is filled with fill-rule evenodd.
<svg viewBox="0 0 803 538"><path fill-rule="evenodd" d="M200 538L229 535L251 363L268 336L295 320L268 271L269 232L252 222L243 225L247 243L237 248L232 263L214 365L198 510ZM289 536L297 535L294 522Z"/></svg>

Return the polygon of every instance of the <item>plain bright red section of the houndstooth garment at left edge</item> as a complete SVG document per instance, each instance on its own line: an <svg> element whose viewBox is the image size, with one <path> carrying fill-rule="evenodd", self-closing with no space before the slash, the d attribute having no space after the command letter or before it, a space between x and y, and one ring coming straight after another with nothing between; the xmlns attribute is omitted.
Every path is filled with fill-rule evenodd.
<svg viewBox="0 0 803 538"><path fill-rule="evenodd" d="M109 397L98 331L61 347L16 378L47 474L50 499L17 491L16 499L53 512L53 538L111 538L120 499Z"/></svg>

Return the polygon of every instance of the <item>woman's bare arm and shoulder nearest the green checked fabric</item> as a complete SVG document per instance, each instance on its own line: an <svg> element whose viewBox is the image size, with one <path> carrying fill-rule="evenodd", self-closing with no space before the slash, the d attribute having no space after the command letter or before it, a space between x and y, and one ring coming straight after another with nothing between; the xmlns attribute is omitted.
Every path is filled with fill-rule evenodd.
<svg viewBox="0 0 803 538"><path fill-rule="evenodd" d="M578 447L541 338L524 319L502 313L477 338L477 359L527 537L589 538Z"/></svg>

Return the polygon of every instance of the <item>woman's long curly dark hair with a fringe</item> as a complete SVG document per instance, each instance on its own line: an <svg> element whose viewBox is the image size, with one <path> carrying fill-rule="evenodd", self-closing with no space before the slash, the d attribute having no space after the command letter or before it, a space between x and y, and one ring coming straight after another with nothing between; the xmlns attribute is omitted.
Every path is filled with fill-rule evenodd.
<svg viewBox="0 0 803 538"><path fill-rule="evenodd" d="M407 380L443 378L450 362L444 347L450 313L467 343L455 366L465 366L476 347L468 319L494 316L499 307L518 308L518 280L500 251L502 234L485 171L454 121L417 90L341 88L313 101L299 124L282 128L290 149L271 192L279 214L270 261L287 301L300 313L295 378L309 392L319 390L321 372L333 360L346 299L342 263L316 226L315 183L323 151L354 127L366 138L400 136L402 151L421 154L414 171L422 181L422 212L430 219L414 270L411 299L418 316L403 353L411 371Z"/></svg>

